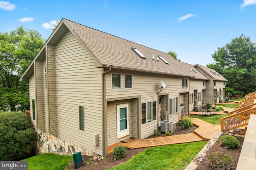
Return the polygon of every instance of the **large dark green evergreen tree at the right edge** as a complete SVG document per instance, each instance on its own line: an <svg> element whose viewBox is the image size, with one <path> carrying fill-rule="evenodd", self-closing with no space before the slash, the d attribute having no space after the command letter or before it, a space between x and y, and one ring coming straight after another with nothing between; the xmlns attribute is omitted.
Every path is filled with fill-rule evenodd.
<svg viewBox="0 0 256 170"><path fill-rule="evenodd" d="M214 64L207 65L227 80L226 92L246 95L256 91L256 43L243 34L231 40L212 55Z"/></svg>

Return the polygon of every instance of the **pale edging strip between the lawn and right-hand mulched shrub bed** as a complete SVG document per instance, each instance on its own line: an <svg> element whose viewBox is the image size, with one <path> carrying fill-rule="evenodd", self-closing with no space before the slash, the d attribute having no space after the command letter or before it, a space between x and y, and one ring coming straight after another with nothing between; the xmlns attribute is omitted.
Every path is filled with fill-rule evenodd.
<svg viewBox="0 0 256 170"><path fill-rule="evenodd" d="M210 145L214 145L215 142L217 141L217 139L219 139L219 137L222 135L223 132L218 131L213 137L212 139L203 147L203 149L196 155L196 156L200 156L202 155L203 157L206 155L204 152L207 150L207 147ZM203 158L202 157L202 158ZM196 157L195 157L196 158ZM195 164L195 162L192 160L190 162L190 164L188 164L188 166L185 168L185 170L195 170L197 168L197 164Z"/></svg>

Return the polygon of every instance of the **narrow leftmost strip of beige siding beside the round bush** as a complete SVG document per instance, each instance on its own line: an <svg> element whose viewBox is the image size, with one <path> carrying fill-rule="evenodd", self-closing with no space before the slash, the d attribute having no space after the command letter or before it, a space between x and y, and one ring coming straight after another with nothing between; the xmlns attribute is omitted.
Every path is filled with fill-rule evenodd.
<svg viewBox="0 0 256 170"><path fill-rule="evenodd" d="M33 120L33 113L32 113L32 99L35 100L36 92L35 92L35 76L32 74L29 78L29 103L30 103L30 119L33 128L36 128L36 121ZM35 101L36 102L36 101Z"/></svg>

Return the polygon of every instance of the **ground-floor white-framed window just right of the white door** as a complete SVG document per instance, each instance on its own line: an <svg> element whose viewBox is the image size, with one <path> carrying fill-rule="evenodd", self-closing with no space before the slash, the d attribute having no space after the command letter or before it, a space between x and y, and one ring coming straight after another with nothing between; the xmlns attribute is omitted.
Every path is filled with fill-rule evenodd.
<svg viewBox="0 0 256 170"><path fill-rule="evenodd" d="M156 120L156 102L141 104L141 124Z"/></svg>

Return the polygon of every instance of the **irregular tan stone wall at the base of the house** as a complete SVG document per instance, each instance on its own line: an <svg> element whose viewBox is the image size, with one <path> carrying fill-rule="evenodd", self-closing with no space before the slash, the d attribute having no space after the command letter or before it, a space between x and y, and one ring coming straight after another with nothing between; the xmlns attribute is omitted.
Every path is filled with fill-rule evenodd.
<svg viewBox="0 0 256 170"><path fill-rule="evenodd" d="M68 141L59 139L58 137L45 133L39 129L35 129L37 133L36 139L36 154L56 153L60 155L72 155L76 152L81 152L88 156L93 156L94 152L74 145Z"/></svg>

